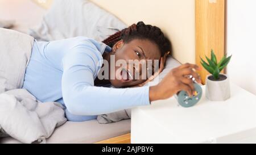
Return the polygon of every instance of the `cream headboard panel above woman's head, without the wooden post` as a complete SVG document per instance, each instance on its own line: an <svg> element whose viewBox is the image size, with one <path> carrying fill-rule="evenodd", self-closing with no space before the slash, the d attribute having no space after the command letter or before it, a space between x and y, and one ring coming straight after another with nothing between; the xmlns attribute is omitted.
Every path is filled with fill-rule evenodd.
<svg viewBox="0 0 256 155"><path fill-rule="evenodd" d="M195 63L195 0L90 0L126 24L143 21L170 37L174 57Z"/></svg>

